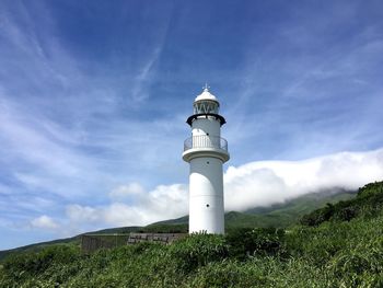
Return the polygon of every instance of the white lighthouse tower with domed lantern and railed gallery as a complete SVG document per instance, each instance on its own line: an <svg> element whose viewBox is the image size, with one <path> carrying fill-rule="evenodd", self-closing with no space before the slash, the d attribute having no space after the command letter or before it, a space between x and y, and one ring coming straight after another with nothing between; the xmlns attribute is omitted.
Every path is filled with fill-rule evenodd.
<svg viewBox="0 0 383 288"><path fill-rule="evenodd" d="M230 158L228 142L221 138L225 119L220 104L206 85L194 101L194 114L187 118L192 137L185 140L183 159L190 163L189 233L224 233L223 171Z"/></svg>

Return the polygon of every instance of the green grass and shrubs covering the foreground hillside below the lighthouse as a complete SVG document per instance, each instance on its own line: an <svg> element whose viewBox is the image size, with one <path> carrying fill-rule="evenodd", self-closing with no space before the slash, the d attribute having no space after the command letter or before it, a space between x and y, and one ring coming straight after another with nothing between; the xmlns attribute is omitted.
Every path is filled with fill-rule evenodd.
<svg viewBox="0 0 383 288"><path fill-rule="evenodd" d="M383 287L383 182L289 229L239 228L172 245L11 255L0 287Z"/></svg>

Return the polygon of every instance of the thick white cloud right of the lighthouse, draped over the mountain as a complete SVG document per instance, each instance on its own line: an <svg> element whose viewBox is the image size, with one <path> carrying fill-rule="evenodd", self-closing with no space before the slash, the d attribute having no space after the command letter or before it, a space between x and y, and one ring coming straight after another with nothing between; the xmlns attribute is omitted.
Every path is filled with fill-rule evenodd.
<svg viewBox="0 0 383 288"><path fill-rule="evenodd" d="M227 210L268 206L306 193L357 189L383 180L383 149L341 152L303 161L262 161L230 166L224 175Z"/></svg>

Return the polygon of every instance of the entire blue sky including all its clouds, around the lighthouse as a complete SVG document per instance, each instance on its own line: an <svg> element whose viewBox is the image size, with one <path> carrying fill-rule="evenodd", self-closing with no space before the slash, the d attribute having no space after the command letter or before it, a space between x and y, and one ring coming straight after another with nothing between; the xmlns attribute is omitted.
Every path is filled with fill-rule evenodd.
<svg viewBox="0 0 383 288"><path fill-rule="evenodd" d="M187 214L205 82L227 210L383 178L382 1L5 0L0 65L0 250Z"/></svg>

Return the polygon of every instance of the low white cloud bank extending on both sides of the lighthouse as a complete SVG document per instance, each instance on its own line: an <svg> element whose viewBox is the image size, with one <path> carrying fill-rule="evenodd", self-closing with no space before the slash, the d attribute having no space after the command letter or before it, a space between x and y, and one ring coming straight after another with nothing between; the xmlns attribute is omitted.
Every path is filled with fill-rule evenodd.
<svg viewBox="0 0 383 288"><path fill-rule="evenodd" d="M302 161L251 162L229 166L224 174L225 210L245 210L282 203L306 193L332 188L357 189L383 180L383 149L341 152ZM160 185L151 192L138 183L119 186L103 207L70 205L67 216L76 226L142 226L188 212L187 186Z"/></svg>

